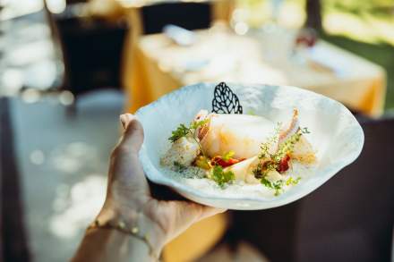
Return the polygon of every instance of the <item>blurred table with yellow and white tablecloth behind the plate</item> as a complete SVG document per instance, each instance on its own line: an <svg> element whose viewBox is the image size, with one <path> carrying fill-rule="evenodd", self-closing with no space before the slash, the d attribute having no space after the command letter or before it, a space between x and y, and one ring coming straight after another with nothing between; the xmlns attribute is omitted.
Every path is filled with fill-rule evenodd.
<svg viewBox="0 0 394 262"><path fill-rule="evenodd" d="M383 111L384 69L327 42L320 40L306 60L298 55L305 60L299 62L299 57L288 55L291 34L251 37L210 29L197 31L197 37L188 47L176 46L163 34L138 40L130 52L131 63L124 67L130 112L184 85L222 80L291 85L370 116Z"/></svg>

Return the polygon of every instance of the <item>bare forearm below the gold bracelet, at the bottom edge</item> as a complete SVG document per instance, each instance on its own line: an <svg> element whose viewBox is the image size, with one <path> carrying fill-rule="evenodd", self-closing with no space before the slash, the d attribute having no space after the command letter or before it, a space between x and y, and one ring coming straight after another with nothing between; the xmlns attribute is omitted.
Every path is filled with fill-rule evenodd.
<svg viewBox="0 0 394 262"><path fill-rule="evenodd" d="M73 262L155 261L150 247L141 239L116 229L94 228L84 236Z"/></svg>

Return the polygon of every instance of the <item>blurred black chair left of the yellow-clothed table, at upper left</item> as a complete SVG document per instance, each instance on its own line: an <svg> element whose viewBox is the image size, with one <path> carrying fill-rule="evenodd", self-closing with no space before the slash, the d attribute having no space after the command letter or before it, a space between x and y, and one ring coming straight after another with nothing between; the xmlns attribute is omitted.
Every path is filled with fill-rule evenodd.
<svg viewBox="0 0 394 262"><path fill-rule="evenodd" d="M64 62L62 89L70 90L75 101L91 90L121 87L122 53L128 30L122 20L81 16L80 9L81 4L67 5L59 14L47 9L54 41ZM75 103L71 109L74 108Z"/></svg>

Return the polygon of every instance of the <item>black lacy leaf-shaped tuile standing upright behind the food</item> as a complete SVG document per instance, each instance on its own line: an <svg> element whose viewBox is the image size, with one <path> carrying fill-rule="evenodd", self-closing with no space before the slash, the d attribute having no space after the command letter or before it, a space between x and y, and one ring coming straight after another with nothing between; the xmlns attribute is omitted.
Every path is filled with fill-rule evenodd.
<svg viewBox="0 0 394 262"><path fill-rule="evenodd" d="M212 112L217 114L242 114L238 97L225 82L219 83L213 91Z"/></svg>

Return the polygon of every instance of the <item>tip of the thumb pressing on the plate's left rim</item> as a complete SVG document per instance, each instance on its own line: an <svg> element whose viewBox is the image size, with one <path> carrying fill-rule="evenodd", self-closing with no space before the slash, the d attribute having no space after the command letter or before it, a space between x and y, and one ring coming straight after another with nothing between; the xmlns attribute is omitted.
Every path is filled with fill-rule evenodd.
<svg viewBox="0 0 394 262"><path fill-rule="evenodd" d="M143 142L143 129L141 123L133 114L121 114L120 122L124 127L124 134L119 146L138 152Z"/></svg>

